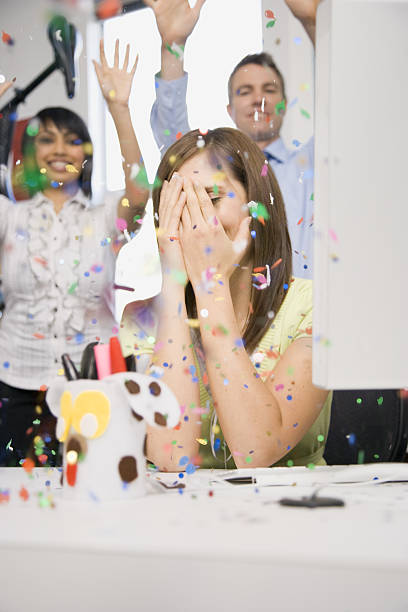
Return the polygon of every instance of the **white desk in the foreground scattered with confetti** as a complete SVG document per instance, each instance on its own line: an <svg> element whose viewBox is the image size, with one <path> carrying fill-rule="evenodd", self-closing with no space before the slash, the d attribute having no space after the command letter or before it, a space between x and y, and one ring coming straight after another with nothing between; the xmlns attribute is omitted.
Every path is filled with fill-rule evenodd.
<svg viewBox="0 0 408 612"><path fill-rule="evenodd" d="M307 509L276 503L315 489L298 476L208 487L201 472L183 494L102 505L62 500L58 476L0 469L1 612L408 609L408 483L333 485L320 494L345 507Z"/></svg>

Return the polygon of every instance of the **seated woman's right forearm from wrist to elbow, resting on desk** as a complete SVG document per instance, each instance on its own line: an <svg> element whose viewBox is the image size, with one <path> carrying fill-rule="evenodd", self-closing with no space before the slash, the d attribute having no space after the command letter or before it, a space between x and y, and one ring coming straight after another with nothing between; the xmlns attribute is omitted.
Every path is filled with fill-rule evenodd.
<svg viewBox="0 0 408 612"><path fill-rule="evenodd" d="M217 286L212 295L198 291L196 300L211 393L235 463L272 465L287 452L280 443L282 415L242 346L229 289Z"/></svg>

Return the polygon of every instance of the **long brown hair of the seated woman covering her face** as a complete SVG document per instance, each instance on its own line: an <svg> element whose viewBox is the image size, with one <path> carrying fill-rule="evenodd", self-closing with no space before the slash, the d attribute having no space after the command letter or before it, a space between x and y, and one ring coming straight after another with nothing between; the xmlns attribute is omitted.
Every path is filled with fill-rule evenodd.
<svg viewBox="0 0 408 612"><path fill-rule="evenodd" d="M225 168L241 183L248 202L253 201L258 205L258 216L261 216L260 210L264 212L266 209L264 222L253 218L250 225L251 231L256 232L250 251L254 268L265 269L266 264L272 268L279 259L282 260L271 269L271 282L266 289L258 290L254 284L251 289L251 307L243 340L246 349L252 352L271 325L271 318L274 316L271 312L278 312L292 275L292 248L283 198L270 165L265 163L262 151L248 136L233 128L217 128L206 134L193 130L185 134L166 151L157 171L159 184L169 180L188 159L203 153L208 153L219 169ZM153 190L156 223L160 191L160 187ZM196 318L196 302L190 283L186 287L186 308L188 316Z"/></svg>

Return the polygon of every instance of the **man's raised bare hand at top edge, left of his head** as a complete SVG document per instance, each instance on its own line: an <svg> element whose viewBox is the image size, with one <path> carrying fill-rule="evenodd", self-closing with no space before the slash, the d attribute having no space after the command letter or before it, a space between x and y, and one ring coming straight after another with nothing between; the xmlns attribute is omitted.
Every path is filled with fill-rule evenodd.
<svg viewBox="0 0 408 612"><path fill-rule="evenodd" d="M144 0L153 9L164 44L184 45L200 16L205 0L197 0L190 8L188 0Z"/></svg>

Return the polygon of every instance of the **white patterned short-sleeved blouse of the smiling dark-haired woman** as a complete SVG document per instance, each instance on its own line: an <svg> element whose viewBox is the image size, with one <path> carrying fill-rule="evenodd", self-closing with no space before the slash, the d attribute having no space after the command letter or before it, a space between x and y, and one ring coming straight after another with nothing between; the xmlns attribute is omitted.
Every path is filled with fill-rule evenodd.
<svg viewBox="0 0 408 612"><path fill-rule="evenodd" d="M14 203L0 196L0 380L23 389L78 365L88 342L117 332L112 315L119 196L94 206L78 191L60 213L42 193Z"/></svg>

